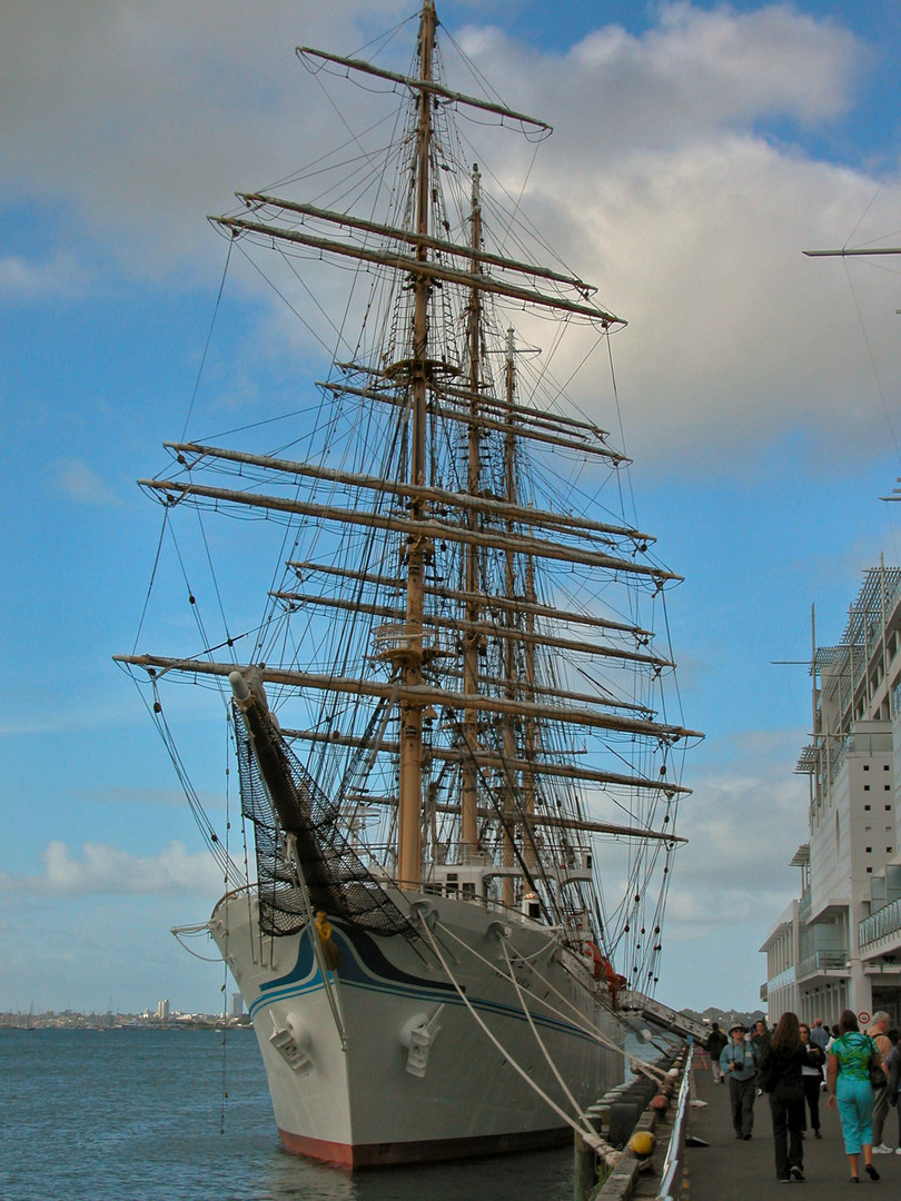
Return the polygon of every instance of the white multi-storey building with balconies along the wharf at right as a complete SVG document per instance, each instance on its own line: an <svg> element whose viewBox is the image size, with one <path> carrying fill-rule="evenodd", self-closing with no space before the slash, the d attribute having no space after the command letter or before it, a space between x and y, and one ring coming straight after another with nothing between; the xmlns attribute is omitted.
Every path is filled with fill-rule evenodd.
<svg viewBox="0 0 901 1201"><path fill-rule="evenodd" d="M801 896L760 950L771 1022L787 1009L830 1024L887 1010L901 1024L901 570L865 575L837 646L815 646L810 841Z"/></svg>

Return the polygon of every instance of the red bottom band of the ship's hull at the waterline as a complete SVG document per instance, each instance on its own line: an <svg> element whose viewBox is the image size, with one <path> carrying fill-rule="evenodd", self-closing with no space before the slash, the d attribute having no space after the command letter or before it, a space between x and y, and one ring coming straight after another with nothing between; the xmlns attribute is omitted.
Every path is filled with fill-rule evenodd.
<svg viewBox="0 0 901 1201"><path fill-rule="evenodd" d="M370 1142L352 1146L306 1139L279 1130L285 1151L292 1155L318 1159L338 1167L390 1167L394 1164L425 1164L442 1159L467 1159L475 1155L502 1155L512 1151L544 1151L559 1147L572 1137L568 1127L529 1130L523 1134L479 1135L471 1139L426 1139L420 1142Z"/></svg>

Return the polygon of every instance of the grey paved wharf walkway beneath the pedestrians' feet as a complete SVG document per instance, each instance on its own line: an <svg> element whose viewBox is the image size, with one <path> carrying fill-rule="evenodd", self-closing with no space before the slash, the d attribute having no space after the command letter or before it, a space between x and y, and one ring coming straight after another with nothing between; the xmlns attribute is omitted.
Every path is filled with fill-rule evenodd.
<svg viewBox="0 0 901 1201"><path fill-rule="evenodd" d="M772 1149L772 1125L770 1107L765 1097L754 1104L754 1131L750 1142L735 1139L729 1116L729 1087L715 1085L708 1057L699 1056L694 1069L694 1095L706 1101L706 1107L692 1106L690 1134L703 1139L708 1147L688 1147L685 1153L686 1177L681 1195L691 1201L759 1201L780 1193L783 1185L776 1182L776 1165ZM841 1124L836 1110L825 1105L827 1095L821 1093L821 1140L815 1140L811 1130L804 1140L804 1188L817 1201L834 1201L848 1195L857 1196L857 1187L848 1183L848 1161L845 1155ZM885 1119L885 1141L899 1145L899 1117L890 1109ZM897 1196L901 1190L901 1155L873 1155L873 1166L881 1179L871 1182L863 1175L860 1158L860 1189L871 1189L873 1183L887 1196ZM637 1197L656 1197L658 1179L642 1182L633 1194ZM792 1188L798 1188L793 1184ZM789 1194L790 1195L790 1194ZM869 1195L866 1193L865 1195Z"/></svg>

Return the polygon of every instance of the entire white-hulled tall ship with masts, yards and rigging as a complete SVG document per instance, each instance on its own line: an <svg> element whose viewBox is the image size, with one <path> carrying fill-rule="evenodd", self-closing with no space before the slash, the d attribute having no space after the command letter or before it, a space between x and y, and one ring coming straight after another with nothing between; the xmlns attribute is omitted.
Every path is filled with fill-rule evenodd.
<svg viewBox="0 0 901 1201"><path fill-rule="evenodd" d="M259 521L278 530L252 633L207 619L201 650L119 657L167 741L171 683L226 715L256 872L207 830L228 891L203 930L284 1146L352 1167L550 1143L622 1078L617 990L656 984L693 736L667 719L651 622L678 576L622 515L628 460L531 341L537 317L602 347L623 322L511 253L535 238L455 123L549 129L452 90L437 24L424 0L408 74L298 49L400 95L390 144L317 161L317 203L241 193L215 225L302 287L350 268L362 331L340 328L278 449L169 443L172 470L141 482L165 524L259 519L235 527L243 593Z"/></svg>

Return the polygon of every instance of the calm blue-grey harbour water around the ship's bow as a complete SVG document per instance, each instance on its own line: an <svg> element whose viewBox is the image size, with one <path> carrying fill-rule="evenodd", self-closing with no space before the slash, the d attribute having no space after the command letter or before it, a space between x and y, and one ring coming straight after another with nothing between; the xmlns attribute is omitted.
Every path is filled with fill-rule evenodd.
<svg viewBox="0 0 901 1201"><path fill-rule="evenodd" d="M353 1177L285 1154L250 1032L0 1029L2 1201L572 1195L568 1147Z"/></svg>

